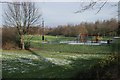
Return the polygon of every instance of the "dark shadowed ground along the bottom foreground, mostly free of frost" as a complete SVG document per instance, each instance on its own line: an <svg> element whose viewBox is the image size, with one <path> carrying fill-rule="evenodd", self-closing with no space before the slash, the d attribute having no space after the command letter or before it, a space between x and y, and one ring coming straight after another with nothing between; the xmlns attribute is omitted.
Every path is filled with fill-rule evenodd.
<svg viewBox="0 0 120 80"><path fill-rule="evenodd" d="M31 51L31 53L35 56L38 56L39 58L42 57L37 53L35 53L34 51ZM69 60L71 61L69 65L57 65L57 64L51 64L50 62L48 62L45 65L47 67L44 69L38 69L38 67L41 66L41 64L37 66L30 66L29 68L25 64L26 69L29 69L29 72L9 73L4 71L3 78L6 78L7 76L9 76L9 77L16 77L16 78L21 78L21 77L26 78L25 80L27 80L27 78L41 78L41 79L46 78L46 79L54 79L54 80L61 80L61 79L64 79L64 80L117 80L117 79L111 78L110 74L105 74L106 70L115 68L114 64L101 68L100 65L98 64L98 62L101 60L100 58L90 58L90 59L77 58L77 59L69 59ZM11 63L9 63L9 65L14 63L13 61L10 61L10 62ZM35 62L35 63L40 63L40 62ZM16 63L18 67L20 67L19 64L21 63ZM23 68L25 68L25 65ZM113 72L115 73L116 71L113 70Z"/></svg>

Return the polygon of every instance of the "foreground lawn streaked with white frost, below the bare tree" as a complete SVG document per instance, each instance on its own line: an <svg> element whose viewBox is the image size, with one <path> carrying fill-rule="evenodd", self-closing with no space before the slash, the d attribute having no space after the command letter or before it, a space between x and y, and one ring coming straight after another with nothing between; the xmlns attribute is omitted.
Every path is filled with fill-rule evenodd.
<svg viewBox="0 0 120 80"><path fill-rule="evenodd" d="M3 51L3 78L73 78L108 54Z"/></svg>

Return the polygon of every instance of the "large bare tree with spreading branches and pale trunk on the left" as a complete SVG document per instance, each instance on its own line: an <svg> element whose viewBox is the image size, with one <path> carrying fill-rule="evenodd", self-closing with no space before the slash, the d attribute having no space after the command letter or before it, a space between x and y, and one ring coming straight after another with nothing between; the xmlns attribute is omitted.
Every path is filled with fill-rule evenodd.
<svg viewBox="0 0 120 80"><path fill-rule="evenodd" d="M7 4L5 10L5 25L17 28L21 49L25 49L24 35L28 34L31 26L39 25L41 14L32 2L13 2Z"/></svg>

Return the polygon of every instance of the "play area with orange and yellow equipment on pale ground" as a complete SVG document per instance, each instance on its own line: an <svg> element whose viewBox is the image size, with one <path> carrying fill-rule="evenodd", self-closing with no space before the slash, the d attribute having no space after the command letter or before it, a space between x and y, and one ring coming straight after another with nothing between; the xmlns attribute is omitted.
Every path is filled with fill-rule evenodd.
<svg viewBox="0 0 120 80"><path fill-rule="evenodd" d="M111 37L111 39L104 39L104 36L99 34L79 34L76 41L62 41L60 43L68 43L74 45L102 45L113 43L116 37Z"/></svg>

